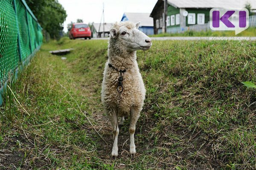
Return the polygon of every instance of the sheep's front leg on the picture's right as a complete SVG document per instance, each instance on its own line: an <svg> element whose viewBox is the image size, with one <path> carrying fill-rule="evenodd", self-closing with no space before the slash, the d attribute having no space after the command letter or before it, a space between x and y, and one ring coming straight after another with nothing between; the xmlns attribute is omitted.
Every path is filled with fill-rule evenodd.
<svg viewBox="0 0 256 170"><path fill-rule="evenodd" d="M130 155L132 158L136 156L136 149L134 144L134 133L135 133L137 120L140 117L141 110L142 108L140 107L131 108L129 133L130 133Z"/></svg>

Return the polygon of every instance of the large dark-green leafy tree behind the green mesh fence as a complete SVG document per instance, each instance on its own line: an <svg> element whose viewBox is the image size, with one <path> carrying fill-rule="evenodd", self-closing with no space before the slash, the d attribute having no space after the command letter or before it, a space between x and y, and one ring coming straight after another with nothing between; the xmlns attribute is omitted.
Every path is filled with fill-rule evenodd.
<svg viewBox="0 0 256 170"><path fill-rule="evenodd" d="M58 39L63 30L67 13L58 0L26 0L42 28L53 39Z"/></svg>

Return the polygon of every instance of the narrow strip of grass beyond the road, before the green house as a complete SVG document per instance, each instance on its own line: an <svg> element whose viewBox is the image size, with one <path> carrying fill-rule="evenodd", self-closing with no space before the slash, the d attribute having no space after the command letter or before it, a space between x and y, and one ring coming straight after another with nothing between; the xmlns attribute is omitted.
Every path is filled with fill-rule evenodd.
<svg viewBox="0 0 256 170"><path fill-rule="evenodd" d="M250 27L235 35L235 31L185 31L183 33L162 33L151 37L256 37L256 28Z"/></svg>

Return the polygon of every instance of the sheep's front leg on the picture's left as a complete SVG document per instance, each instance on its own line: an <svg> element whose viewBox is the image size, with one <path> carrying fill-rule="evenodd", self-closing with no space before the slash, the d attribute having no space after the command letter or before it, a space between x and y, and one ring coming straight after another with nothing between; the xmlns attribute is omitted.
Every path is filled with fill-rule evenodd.
<svg viewBox="0 0 256 170"><path fill-rule="evenodd" d="M115 112L112 112L111 114L111 119L112 119L112 127L113 127L113 148L112 148L112 159L116 159L118 156L118 146L117 146L117 138L118 138L118 134L119 134L119 128L118 125L116 124L117 122L117 114ZM117 127L116 127L117 126Z"/></svg>

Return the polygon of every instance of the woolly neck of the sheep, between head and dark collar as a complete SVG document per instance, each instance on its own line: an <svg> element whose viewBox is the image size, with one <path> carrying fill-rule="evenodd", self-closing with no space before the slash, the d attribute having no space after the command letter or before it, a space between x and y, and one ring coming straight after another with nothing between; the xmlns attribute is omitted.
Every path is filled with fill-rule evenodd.
<svg viewBox="0 0 256 170"><path fill-rule="evenodd" d="M127 52L114 46L108 48L109 62L118 70L129 70L136 63L136 51Z"/></svg>

